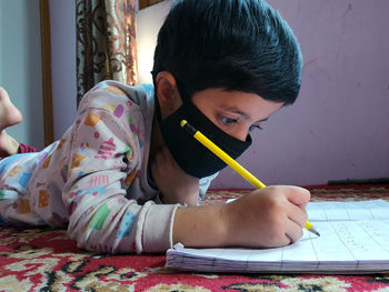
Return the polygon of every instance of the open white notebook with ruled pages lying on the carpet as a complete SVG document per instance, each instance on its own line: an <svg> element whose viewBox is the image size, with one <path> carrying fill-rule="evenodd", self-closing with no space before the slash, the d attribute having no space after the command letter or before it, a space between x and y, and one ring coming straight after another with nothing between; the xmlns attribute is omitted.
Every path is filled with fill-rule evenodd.
<svg viewBox="0 0 389 292"><path fill-rule="evenodd" d="M277 249L187 249L167 252L168 268L201 272L372 273L389 271L389 202L311 202L305 230Z"/></svg>

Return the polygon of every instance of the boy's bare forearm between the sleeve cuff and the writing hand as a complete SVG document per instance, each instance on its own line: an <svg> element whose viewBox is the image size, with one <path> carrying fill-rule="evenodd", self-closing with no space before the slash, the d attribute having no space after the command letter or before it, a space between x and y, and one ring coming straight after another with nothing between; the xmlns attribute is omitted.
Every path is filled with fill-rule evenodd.
<svg viewBox="0 0 389 292"><path fill-rule="evenodd" d="M179 208L176 211L173 243L209 248L228 244L228 224L222 205Z"/></svg>

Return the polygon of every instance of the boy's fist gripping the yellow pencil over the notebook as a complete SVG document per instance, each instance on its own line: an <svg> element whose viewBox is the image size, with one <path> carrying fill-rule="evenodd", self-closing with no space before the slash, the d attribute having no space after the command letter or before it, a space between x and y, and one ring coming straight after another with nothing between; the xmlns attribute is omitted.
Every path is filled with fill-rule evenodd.
<svg viewBox="0 0 389 292"><path fill-rule="evenodd" d="M275 248L296 242L307 222L310 193L298 187L268 187L225 205L228 245Z"/></svg>

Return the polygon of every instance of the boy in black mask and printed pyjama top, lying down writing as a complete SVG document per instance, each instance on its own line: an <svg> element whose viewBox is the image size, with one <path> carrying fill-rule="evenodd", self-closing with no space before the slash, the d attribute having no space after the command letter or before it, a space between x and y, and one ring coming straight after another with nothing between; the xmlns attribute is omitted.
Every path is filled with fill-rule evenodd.
<svg viewBox="0 0 389 292"><path fill-rule="evenodd" d="M301 63L265 1L177 1L158 36L154 88L99 83L60 141L0 162L3 223L68 226L80 248L111 253L295 242L307 221L301 188L194 207L225 164L179 122L237 158L252 129L293 103Z"/></svg>

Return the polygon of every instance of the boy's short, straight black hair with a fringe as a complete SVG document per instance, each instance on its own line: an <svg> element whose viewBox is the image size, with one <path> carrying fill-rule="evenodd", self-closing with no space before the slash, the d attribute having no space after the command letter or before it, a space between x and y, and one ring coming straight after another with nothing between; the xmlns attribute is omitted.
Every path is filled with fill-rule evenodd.
<svg viewBox="0 0 389 292"><path fill-rule="evenodd" d="M265 0L179 0L158 33L152 77L171 72L189 97L223 88L291 104L301 70L292 30Z"/></svg>

